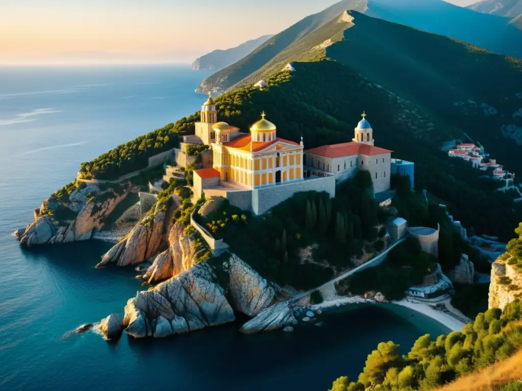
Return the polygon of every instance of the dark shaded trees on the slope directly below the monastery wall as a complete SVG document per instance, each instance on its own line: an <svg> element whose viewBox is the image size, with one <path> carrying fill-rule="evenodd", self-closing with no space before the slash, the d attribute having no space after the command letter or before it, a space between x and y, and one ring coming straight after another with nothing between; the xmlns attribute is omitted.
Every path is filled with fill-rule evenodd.
<svg viewBox="0 0 522 391"><path fill-rule="evenodd" d="M333 200L326 193L299 193L263 216L223 201L201 223L265 278L309 289L351 267L363 247L373 255L365 244L379 240L377 226L386 215L370 196L371 187L370 175L360 172L340 185Z"/></svg>

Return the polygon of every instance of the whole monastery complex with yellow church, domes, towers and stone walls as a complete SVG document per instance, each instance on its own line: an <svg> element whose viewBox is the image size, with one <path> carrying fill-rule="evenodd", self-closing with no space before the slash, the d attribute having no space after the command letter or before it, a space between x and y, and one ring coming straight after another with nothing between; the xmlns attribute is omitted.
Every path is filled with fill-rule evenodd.
<svg viewBox="0 0 522 391"><path fill-rule="evenodd" d="M335 197L336 182L358 170L372 175L374 192L390 190L393 151L374 145L373 129L363 119L352 142L304 150L300 142L277 137L277 127L263 112L250 133L218 121L216 105L209 99L201 107L196 136L212 150L212 168L194 171L198 197L220 196L254 214L303 191L327 192Z"/></svg>

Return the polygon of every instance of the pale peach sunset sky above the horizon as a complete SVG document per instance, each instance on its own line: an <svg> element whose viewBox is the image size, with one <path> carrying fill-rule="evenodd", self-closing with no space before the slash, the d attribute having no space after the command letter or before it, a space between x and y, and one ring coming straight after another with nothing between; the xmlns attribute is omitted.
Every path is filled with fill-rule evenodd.
<svg viewBox="0 0 522 391"><path fill-rule="evenodd" d="M337 1L0 0L0 64L192 62Z"/></svg>

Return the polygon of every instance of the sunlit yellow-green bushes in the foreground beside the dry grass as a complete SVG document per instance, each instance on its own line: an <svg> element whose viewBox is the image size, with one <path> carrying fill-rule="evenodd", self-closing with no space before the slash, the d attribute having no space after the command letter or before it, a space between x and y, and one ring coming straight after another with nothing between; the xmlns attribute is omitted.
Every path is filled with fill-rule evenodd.
<svg viewBox="0 0 522 391"><path fill-rule="evenodd" d="M437 388L513 355L522 347L521 316L522 302L518 300L507 304L504 311L481 312L461 332L440 335L436 340L429 334L418 338L404 356L399 355L399 346L392 341L380 343L368 356L357 381L349 382L347 377L340 377L331 390Z"/></svg>

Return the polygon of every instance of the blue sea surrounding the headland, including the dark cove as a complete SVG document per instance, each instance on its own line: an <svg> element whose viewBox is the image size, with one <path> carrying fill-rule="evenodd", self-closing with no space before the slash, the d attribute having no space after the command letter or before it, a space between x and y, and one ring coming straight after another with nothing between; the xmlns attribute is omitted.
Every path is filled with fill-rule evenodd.
<svg viewBox="0 0 522 391"><path fill-rule="evenodd" d="M81 162L197 111L205 76L188 64L0 67L0 390L326 391L341 375L355 380L381 341L405 353L448 332L405 308L365 305L293 333L245 336L241 316L166 339L70 333L121 317L143 289L135 271L94 268L111 243L24 249L13 232Z"/></svg>

